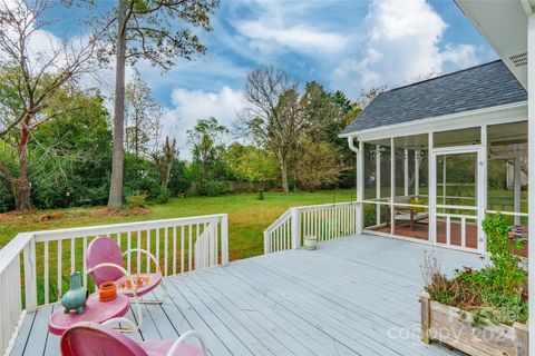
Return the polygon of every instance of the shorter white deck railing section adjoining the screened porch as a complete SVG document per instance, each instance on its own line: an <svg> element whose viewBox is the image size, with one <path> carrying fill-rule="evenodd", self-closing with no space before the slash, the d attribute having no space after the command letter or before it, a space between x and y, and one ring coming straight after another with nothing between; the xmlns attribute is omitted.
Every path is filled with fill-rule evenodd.
<svg viewBox="0 0 535 356"><path fill-rule="evenodd" d="M264 254L298 248L304 236L318 243L357 234L357 202L288 209L264 231Z"/></svg>

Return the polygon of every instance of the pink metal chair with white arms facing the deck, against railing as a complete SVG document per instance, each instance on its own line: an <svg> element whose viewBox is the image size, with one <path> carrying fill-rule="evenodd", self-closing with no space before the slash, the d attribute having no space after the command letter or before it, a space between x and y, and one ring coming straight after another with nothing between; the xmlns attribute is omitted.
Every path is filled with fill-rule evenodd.
<svg viewBox="0 0 535 356"><path fill-rule="evenodd" d="M130 275L125 269L124 258L128 254L139 253L145 254L150 261L156 265L155 274L135 274ZM140 257L140 255L139 255ZM152 291L157 286L162 285L164 296L159 299L144 299L139 298L139 303L145 304L162 304L167 297L167 289L163 281L162 269L156 258L148 251L140 248L132 248L123 253L120 246L109 236L97 236L87 247L86 251L86 267L87 273L91 276L97 286L105 281L115 281L117 285L117 293L121 293L129 298L143 297ZM137 286L136 280L139 277L146 278L146 284ZM132 288L128 288L128 285Z"/></svg>

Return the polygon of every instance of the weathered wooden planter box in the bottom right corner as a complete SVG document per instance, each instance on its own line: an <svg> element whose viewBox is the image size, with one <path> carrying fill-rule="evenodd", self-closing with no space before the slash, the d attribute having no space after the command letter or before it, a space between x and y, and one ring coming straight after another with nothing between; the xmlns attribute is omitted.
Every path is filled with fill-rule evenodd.
<svg viewBox="0 0 535 356"><path fill-rule="evenodd" d="M528 328L489 325L473 327L473 314L431 300L428 293L421 298L421 340L437 340L469 355L528 356Z"/></svg>

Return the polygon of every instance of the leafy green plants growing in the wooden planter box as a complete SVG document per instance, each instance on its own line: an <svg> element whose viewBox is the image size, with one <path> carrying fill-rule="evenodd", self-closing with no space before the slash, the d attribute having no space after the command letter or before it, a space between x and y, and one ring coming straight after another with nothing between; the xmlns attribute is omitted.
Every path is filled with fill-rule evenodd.
<svg viewBox="0 0 535 356"><path fill-rule="evenodd" d="M519 241L508 238L508 226L502 215L483 221L487 235L490 264L480 270L464 267L448 278L436 258L426 256L422 266L426 290L434 300L474 312L473 326L489 323L512 325L527 320L527 271L512 251Z"/></svg>

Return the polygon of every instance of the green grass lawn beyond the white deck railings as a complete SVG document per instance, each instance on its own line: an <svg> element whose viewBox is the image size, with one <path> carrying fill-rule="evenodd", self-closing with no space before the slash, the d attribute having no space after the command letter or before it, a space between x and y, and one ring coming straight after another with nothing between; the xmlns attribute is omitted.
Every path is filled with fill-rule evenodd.
<svg viewBox="0 0 535 356"><path fill-rule="evenodd" d="M36 210L23 215L0 214L0 247L21 231L225 212L228 214L230 258L234 260L263 254L264 229L289 207L354 200L354 190L291 192L289 195L266 192L264 197L264 200L259 200L257 194L188 197L172 199L168 204L149 206L147 209L126 210L121 214L110 214L103 207Z"/></svg>

